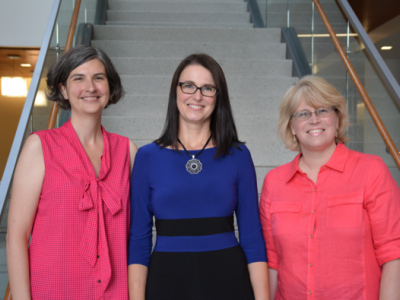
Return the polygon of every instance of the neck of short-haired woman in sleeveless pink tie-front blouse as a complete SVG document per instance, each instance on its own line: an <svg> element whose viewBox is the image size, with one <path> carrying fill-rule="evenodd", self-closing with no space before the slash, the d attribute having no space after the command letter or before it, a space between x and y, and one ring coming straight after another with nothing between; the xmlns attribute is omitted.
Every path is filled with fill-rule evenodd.
<svg viewBox="0 0 400 300"><path fill-rule="evenodd" d="M71 113L71 124L82 144L95 143L98 138L102 138L101 116L76 116Z"/></svg>

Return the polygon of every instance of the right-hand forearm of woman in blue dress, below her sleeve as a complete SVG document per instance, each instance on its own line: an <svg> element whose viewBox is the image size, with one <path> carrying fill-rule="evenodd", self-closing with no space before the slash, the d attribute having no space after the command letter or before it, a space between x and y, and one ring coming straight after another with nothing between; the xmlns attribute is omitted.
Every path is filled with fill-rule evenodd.
<svg viewBox="0 0 400 300"><path fill-rule="evenodd" d="M248 265L251 285L256 300L269 299L268 265L265 262L254 262Z"/></svg>

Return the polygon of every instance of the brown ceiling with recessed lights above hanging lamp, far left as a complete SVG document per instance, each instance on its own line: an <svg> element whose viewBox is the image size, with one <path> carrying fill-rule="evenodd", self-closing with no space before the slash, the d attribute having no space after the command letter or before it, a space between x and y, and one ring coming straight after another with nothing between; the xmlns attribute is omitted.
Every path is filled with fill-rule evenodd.
<svg viewBox="0 0 400 300"><path fill-rule="evenodd" d="M21 76L32 77L40 49L36 48L0 48L0 77ZM10 59L7 56L19 56L19 59ZM21 67L21 64L31 64L30 67Z"/></svg>

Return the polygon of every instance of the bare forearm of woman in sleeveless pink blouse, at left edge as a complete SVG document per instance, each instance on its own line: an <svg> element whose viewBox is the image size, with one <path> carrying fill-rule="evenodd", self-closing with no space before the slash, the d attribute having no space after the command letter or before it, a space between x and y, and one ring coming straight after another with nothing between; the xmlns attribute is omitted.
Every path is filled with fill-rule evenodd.
<svg viewBox="0 0 400 300"><path fill-rule="evenodd" d="M13 300L31 299L26 238L7 234L7 270Z"/></svg>

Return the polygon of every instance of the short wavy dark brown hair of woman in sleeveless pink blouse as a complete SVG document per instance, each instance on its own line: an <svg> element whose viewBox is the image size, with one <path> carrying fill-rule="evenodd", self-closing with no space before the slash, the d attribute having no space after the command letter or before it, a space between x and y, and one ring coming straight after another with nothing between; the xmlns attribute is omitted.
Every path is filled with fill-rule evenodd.
<svg viewBox="0 0 400 300"><path fill-rule="evenodd" d="M46 82L49 90L46 94L47 99L57 102L57 105L62 109L71 109L69 101L65 100L62 95L59 85L61 83L66 86L68 76L72 70L95 58L100 60L106 69L110 89L110 99L107 105L117 103L124 96L125 91L121 84L121 78L110 58L101 49L83 45L76 46L66 52L47 72Z"/></svg>

